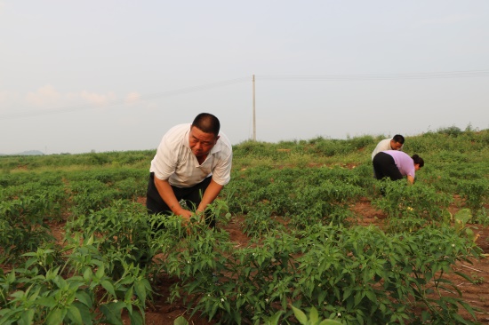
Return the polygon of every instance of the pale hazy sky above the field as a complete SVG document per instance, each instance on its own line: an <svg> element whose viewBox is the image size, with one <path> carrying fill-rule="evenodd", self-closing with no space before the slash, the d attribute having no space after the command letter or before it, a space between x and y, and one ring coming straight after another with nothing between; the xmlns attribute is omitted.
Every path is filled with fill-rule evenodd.
<svg viewBox="0 0 489 325"><path fill-rule="evenodd" d="M0 153L489 128L489 1L0 0Z"/></svg>

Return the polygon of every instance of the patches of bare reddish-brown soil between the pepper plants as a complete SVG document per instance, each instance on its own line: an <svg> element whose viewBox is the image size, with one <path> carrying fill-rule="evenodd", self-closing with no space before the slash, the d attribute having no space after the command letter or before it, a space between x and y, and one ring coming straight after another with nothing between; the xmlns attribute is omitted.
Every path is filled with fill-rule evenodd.
<svg viewBox="0 0 489 325"><path fill-rule="evenodd" d="M144 204L144 199L140 198L138 202ZM357 223L362 226L376 225L383 226L383 220L387 217L381 210L376 210L371 202L363 199L355 203L350 209L357 216ZM459 208L453 204L450 208L452 213L456 213ZM236 242L236 246L246 246L249 242L248 236L243 234L244 216L234 218L228 225L222 226L227 230L231 241ZM58 239L62 239L64 234L62 224L52 225L52 232ZM218 225L219 226L219 225ZM476 279L476 283L470 283L456 274L450 275L452 281L457 283L458 288L463 294L466 302L477 309L477 321L481 324L489 324L489 226L472 226L474 233L478 235L477 245L484 251L484 255L479 260L473 260L472 264L460 263L456 266L457 271L471 275ZM146 324L152 325L168 325L173 324L173 321L182 315L190 324L204 325L214 324L215 321L207 321L199 315L189 317L187 306L183 300L174 301L172 304L167 301L170 296L170 287L177 281L174 278L162 278L160 283L156 285L156 295L154 301L148 304L146 310ZM461 315L470 319L469 313L461 309ZM130 321L125 317L124 323L129 324Z"/></svg>

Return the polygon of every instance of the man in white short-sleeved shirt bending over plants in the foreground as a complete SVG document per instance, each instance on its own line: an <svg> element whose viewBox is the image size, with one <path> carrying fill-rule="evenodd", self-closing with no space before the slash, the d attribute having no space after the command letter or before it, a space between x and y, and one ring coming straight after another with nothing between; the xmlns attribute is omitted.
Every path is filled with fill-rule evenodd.
<svg viewBox="0 0 489 325"><path fill-rule="evenodd" d="M228 184L232 157L232 146L214 115L201 113L191 124L172 127L151 161L148 213L173 213L188 221L194 212L181 207L181 200L196 213L204 212ZM206 222L214 226L215 221Z"/></svg>

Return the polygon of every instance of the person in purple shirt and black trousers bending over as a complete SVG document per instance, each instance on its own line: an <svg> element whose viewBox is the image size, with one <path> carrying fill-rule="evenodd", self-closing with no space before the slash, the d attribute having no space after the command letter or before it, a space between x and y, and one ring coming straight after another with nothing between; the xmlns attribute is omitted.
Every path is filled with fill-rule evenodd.
<svg viewBox="0 0 489 325"><path fill-rule="evenodd" d="M416 170L423 166L424 161L419 155L410 157L397 150L381 151L373 157L373 170L377 179L398 180L406 177L413 184Z"/></svg>

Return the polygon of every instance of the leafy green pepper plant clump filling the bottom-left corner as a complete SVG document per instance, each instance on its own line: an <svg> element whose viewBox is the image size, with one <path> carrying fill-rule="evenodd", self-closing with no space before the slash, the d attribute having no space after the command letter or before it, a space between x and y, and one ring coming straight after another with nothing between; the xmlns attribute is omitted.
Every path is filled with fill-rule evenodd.
<svg viewBox="0 0 489 325"><path fill-rule="evenodd" d="M26 254L22 267L2 271L0 324L122 324L123 310L132 324L143 324L151 293L145 273L124 265L120 280L108 277L107 261L97 258L96 244L93 237L82 241L75 234L63 263L53 258L53 250L39 248Z"/></svg>

